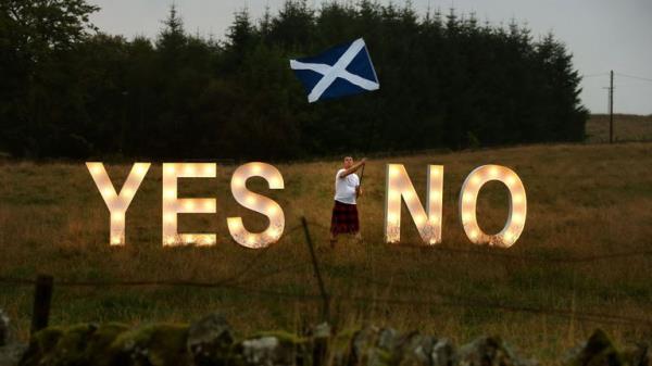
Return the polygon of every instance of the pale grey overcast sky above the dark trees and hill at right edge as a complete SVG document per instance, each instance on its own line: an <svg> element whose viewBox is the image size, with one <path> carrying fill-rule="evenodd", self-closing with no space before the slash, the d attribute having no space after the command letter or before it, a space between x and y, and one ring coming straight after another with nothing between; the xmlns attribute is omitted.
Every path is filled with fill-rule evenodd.
<svg viewBox="0 0 652 366"><path fill-rule="evenodd" d="M102 30L128 38L155 36L173 0L89 0L102 8L92 21ZM235 11L247 7L259 17L265 5L276 11L284 0L174 0L186 29L222 38ZM387 0L379 0L387 3ZM315 8L321 0L310 1ZM394 1L402 4L402 1ZM652 114L652 0L413 0L414 8L425 13L432 9L459 12L474 11L491 23L512 17L526 22L535 36L552 30L574 54L575 67L587 77L582 102L593 113L605 113L607 72L639 76L650 80L616 74L614 111L616 113ZM371 50L372 58L374 56ZM383 84L383 80L380 80Z"/></svg>

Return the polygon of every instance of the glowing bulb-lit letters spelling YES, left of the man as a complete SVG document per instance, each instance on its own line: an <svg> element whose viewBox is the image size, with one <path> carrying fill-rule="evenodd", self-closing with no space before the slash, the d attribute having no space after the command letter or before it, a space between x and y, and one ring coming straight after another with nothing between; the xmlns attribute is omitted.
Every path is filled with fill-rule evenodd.
<svg viewBox="0 0 652 366"><path fill-rule="evenodd" d="M136 163L120 194L116 193L102 163L86 163L88 171L102 195L111 215L110 243L124 245L126 211L147 175L150 163ZM285 228L285 216L280 206L273 200L247 190L247 179L260 176L266 179L271 189L283 189L283 176L274 166L265 163L248 163L236 169L231 177L234 198L244 207L256 211L269 218L271 225L263 232L249 232L240 217L228 217L231 237L241 245L263 248L278 241ZM213 234L178 234L177 215L180 213L216 212L215 199L177 198L178 178L215 178L214 163L164 163L163 164L163 245L214 245Z"/></svg>

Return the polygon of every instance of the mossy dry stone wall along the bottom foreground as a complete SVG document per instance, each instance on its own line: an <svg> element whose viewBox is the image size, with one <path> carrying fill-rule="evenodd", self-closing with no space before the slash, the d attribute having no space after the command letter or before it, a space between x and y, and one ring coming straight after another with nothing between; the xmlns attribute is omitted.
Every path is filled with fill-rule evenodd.
<svg viewBox="0 0 652 366"><path fill-rule="evenodd" d="M456 346L418 331L367 327L333 333L327 324L308 335L261 332L236 339L220 314L192 325L139 328L110 323L50 327L20 344L0 311L0 366L535 366L502 339ZM618 350L597 330L560 363L565 366L652 366L649 345Z"/></svg>

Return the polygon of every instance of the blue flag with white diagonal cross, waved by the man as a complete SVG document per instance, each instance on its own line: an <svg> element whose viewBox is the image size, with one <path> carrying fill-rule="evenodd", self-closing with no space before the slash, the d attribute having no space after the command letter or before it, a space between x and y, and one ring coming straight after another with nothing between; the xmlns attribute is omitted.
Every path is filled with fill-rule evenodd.
<svg viewBox="0 0 652 366"><path fill-rule="evenodd" d="M303 84L311 103L380 88L362 38L313 58L290 60L290 67Z"/></svg>

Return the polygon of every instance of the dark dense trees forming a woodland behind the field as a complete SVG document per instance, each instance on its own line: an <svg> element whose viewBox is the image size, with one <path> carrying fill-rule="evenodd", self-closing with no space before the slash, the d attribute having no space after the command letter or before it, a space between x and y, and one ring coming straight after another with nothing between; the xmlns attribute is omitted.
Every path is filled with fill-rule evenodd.
<svg viewBox="0 0 652 366"><path fill-rule="evenodd" d="M552 34L453 10L288 0L223 38L175 7L153 39L105 34L86 0L0 0L0 151L13 156L286 160L585 138ZM363 37L380 90L309 104L289 59Z"/></svg>

